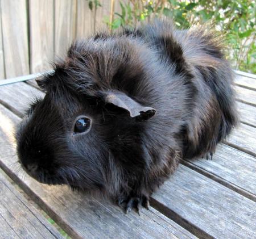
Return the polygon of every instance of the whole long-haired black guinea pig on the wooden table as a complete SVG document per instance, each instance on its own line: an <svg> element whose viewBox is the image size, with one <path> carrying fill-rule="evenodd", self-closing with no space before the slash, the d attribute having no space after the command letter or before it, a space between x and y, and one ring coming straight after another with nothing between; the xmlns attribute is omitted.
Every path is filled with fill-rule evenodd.
<svg viewBox="0 0 256 239"><path fill-rule="evenodd" d="M156 20L76 41L16 132L19 161L39 182L101 191L126 212L180 159L212 156L237 122L233 72L204 26Z"/></svg>

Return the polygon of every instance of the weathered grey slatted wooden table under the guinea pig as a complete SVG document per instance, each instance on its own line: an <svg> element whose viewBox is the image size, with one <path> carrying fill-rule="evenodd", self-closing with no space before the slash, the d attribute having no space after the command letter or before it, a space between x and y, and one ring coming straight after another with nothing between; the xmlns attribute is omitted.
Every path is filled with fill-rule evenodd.
<svg viewBox="0 0 256 239"><path fill-rule="evenodd" d="M239 127L212 161L181 162L141 216L24 177L13 130L32 97L43 93L35 76L0 81L0 237L61 238L38 205L74 238L256 238L256 79L236 74Z"/></svg>

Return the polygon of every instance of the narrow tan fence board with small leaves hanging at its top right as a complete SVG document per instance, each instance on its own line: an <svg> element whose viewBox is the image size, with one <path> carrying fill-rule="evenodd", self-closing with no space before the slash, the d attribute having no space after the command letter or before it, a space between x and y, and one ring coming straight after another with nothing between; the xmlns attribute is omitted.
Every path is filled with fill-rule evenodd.
<svg viewBox="0 0 256 239"><path fill-rule="evenodd" d="M76 36L88 37L93 33L93 14L88 1L77 0L76 3Z"/></svg>

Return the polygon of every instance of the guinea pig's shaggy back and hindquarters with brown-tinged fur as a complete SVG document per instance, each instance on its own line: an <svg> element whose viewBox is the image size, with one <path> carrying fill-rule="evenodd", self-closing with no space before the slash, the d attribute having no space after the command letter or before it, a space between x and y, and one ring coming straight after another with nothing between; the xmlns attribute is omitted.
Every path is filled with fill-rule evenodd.
<svg viewBox="0 0 256 239"><path fill-rule="evenodd" d="M162 81L164 100L170 110L177 109L187 158L214 152L237 123L233 72L221 37L207 27L180 31L168 21L156 21L141 28L159 61L169 66L169 77Z"/></svg>

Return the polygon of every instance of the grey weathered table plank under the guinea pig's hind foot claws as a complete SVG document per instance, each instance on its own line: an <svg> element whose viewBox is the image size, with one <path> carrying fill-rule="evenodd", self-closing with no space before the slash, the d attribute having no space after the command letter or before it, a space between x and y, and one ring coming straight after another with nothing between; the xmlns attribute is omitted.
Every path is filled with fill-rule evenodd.
<svg viewBox="0 0 256 239"><path fill-rule="evenodd" d="M233 190L256 201L255 157L221 144L217 147L213 160L198 158L189 162L189 167L196 166L192 168L204 175L210 174L211 178L217 176L218 182L228 187L231 185Z"/></svg>

